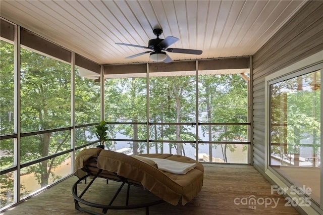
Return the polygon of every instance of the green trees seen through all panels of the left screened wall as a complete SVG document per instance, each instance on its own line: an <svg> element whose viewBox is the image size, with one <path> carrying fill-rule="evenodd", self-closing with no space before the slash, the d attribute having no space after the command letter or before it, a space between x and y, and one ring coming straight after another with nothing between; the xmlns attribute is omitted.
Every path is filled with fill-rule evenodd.
<svg viewBox="0 0 323 215"><path fill-rule="evenodd" d="M13 45L1 41L1 134L13 133ZM3 79L6 77L6 79ZM77 80L77 78L76 78ZM21 132L46 131L48 129L70 127L71 125L71 66L64 62L54 60L21 48ZM93 82L93 80L89 80ZM94 82L93 82L94 83ZM99 119L98 96L90 92L89 82L78 81L76 87L76 119L82 123L90 119ZM82 90L80 90L82 89ZM87 90L88 89L88 90ZM96 97L96 98L95 98ZM81 99L79 99L81 98ZM80 102L81 100L81 102ZM95 101L95 102L94 102ZM81 105L84 106L82 107ZM85 111L86 107L92 109ZM83 109L81 113L79 110ZM87 112L87 116L85 116ZM95 118L96 116L96 118ZM94 131L93 131L94 134ZM78 133L76 132L76 135ZM89 135L91 136L91 135ZM79 136L78 136L79 137ZM27 163L48 155L71 148L70 130L59 132L44 132L42 134L21 137L20 152L21 163ZM0 158L2 169L13 165L14 146L12 139L1 140L0 149L6 151L7 156ZM51 159L43 160L37 164L21 169L21 174L33 174L41 185L48 185L49 180L55 181L61 176L53 170L70 156L66 153ZM2 204L11 201L4 197L6 191L13 189L13 178L8 175L1 176ZM27 186L20 185L22 196L27 195ZM27 188L28 189L28 188ZM6 195L5 195L6 196Z"/></svg>

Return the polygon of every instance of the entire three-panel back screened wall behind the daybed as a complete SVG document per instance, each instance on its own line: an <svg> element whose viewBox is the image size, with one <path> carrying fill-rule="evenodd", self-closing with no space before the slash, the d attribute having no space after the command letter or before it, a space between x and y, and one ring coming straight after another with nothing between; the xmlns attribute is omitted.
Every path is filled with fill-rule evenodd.
<svg viewBox="0 0 323 215"><path fill-rule="evenodd" d="M105 65L106 148L250 163L249 60Z"/></svg>

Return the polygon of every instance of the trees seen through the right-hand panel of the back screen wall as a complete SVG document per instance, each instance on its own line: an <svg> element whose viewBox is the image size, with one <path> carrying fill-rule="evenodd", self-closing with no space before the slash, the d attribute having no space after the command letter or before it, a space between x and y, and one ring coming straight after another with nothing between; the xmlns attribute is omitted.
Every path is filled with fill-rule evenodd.
<svg viewBox="0 0 323 215"><path fill-rule="evenodd" d="M199 96L202 121L207 123L247 122L247 82L239 74L201 76ZM206 112L206 114L204 113ZM247 129L243 126L207 125L202 132L209 141L236 141L246 139ZM235 144L214 144L222 149L223 159L228 163L227 149L234 152ZM246 147L243 148L246 150ZM212 145L209 144L209 159L212 160Z"/></svg>

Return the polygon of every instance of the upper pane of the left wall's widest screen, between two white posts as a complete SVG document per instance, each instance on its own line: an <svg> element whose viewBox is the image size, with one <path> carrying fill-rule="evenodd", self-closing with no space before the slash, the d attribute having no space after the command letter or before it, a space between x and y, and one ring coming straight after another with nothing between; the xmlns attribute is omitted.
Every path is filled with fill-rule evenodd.
<svg viewBox="0 0 323 215"><path fill-rule="evenodd" d="M69 127L71 65L21 48L21 131Z"/></svg>

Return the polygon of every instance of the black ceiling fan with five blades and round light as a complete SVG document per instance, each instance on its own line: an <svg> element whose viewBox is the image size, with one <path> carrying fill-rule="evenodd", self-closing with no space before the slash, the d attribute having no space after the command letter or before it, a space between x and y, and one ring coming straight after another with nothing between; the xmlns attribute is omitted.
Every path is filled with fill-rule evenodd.
<svg viewBox="0 0 323 215"><path fill-rule="evenodd" d="M196 50L196 49L169 48L168 46L178 41L179 38L173 37L173 36L167 36L165 39L159 38L159 35L163 33L163 30L160 28L153 29L152 32L157 36L157 38L150 39L148 42L148 46L133 45L133 44L122 43L122 42L117 42L116 44L151 49L151 51L137 53L136 55L129 56L126 59L135 58L135 57L144 55L145 53L150 53L150 59L154 62L161 62L161 61L163 61L164 63L172 62L173 60L167 55L165 51L174 52L174 53L186 53L191 55L201 55L202 53L202 50Z"/></svg>

